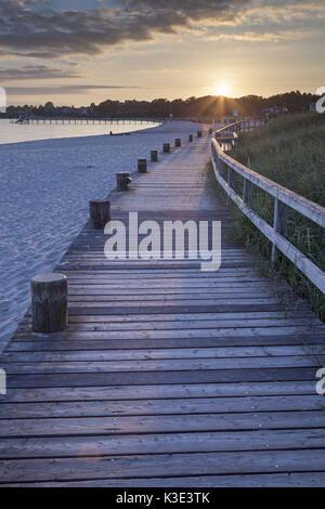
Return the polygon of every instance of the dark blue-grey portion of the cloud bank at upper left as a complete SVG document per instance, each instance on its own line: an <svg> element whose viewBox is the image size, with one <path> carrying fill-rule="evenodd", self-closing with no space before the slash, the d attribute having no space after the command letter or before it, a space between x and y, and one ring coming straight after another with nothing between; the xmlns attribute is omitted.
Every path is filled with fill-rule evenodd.
<svg viewBox="0 0 325 509"><path fill-rule="evenodd" d="M0 0L0 50L56 57L98 54L105 47L233 21L249 0L119 0L114 9L56 12L46 2Z"/></svg>

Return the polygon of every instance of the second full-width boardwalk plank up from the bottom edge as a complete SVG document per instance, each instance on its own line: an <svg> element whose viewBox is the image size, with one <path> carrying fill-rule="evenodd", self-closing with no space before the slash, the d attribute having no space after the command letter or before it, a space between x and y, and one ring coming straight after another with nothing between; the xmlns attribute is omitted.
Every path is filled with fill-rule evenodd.
<svg viewBox="0 0 325 509"><path fill-rule="evenodd" d="M0 458L308 449L325 446L325 430L257 430L134 435L2 439Z"/></svg>

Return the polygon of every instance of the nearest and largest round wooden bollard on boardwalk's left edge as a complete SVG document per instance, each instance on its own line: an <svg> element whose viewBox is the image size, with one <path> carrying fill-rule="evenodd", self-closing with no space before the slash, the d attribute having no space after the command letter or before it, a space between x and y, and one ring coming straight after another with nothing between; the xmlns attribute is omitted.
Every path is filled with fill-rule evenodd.
<svg viewBox="0 0 325 509"><path fill-rule="evenodd" d="M67 278L64 274L32 277L31 314L34 332L60 332L68 323Z"/></svg>

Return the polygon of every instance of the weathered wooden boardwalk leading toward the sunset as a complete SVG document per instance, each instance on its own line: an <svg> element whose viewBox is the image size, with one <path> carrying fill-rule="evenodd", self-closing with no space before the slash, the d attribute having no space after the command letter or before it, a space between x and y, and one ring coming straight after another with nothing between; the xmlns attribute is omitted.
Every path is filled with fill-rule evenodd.
<svg viewBox="0 0 325 509"><path fill-rule="evenodd" d="M234 240L208 190L209 136L113 193L113 219L222 221L222 265L108 261L87 225L56 272L69 327L0 357L0 483L32 486L324 486L325 327Z"/></svg>

